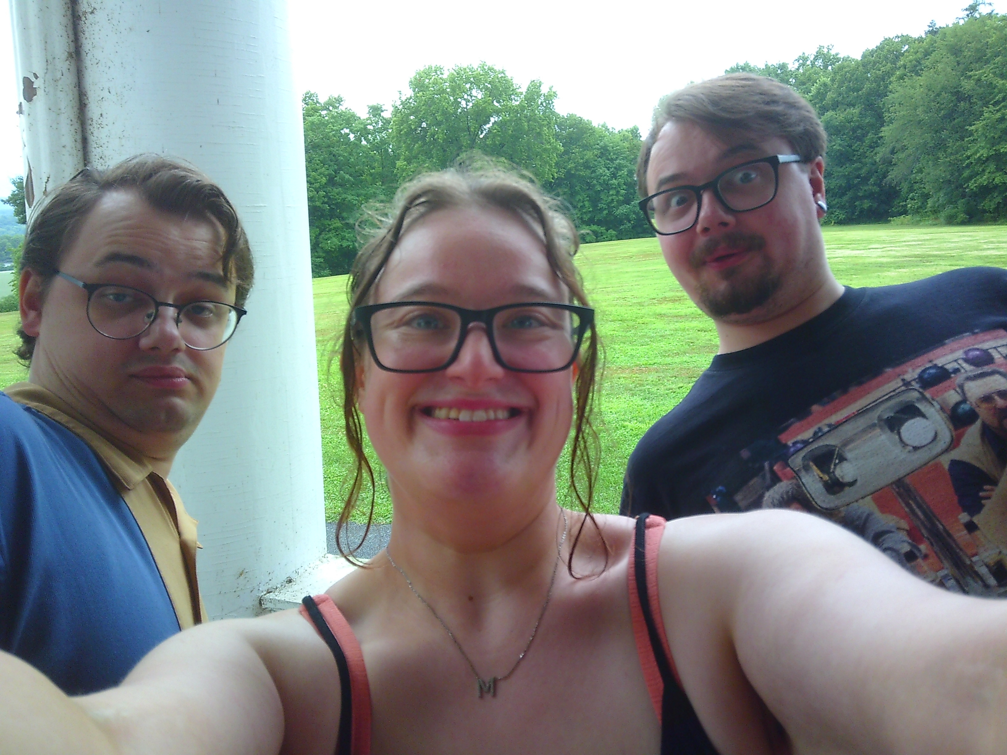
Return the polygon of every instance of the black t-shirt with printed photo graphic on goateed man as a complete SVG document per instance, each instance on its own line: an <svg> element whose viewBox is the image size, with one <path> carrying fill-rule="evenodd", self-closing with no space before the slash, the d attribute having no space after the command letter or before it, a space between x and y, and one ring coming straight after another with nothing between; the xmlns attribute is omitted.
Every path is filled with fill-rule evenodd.
<svg viewBox="0 0 1007 755"><path fill-rule="evenodd" d="M637 444L622 512L808 510L933 584L1007 595L1003 428L966 401L969 375L1007 386L1007 271L848 288L716 355Z"/></svg>

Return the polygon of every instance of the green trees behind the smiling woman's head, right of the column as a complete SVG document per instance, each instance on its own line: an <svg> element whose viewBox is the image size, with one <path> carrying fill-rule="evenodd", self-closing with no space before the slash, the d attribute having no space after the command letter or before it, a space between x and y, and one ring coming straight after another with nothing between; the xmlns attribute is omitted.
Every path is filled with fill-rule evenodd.
<svg viewBox="0 0 1007 755"><path fill-rule="evenodd" d="M565 199L586 241L632 239L646 223L632 206L636 128L615 130L559 115L541 82L524 91L487 63L422 68L390 112L366 116L342 98L302 100L312 275L345 273L356 251L354 223L405 180L479 152L531 173Z"/></svg>

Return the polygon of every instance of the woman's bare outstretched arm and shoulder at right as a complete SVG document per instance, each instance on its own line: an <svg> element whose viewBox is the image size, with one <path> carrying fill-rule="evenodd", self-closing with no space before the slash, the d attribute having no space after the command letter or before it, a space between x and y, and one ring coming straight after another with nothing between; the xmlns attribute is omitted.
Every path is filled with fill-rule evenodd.
<svg viewBox="0 0 1007 755"><path fill-rule="evenodd" d="M671 522L659 568L680 674L725 755L777 751L766 712L799 753L1003 752L1007 601L933 588L788 511Z"/></svg>

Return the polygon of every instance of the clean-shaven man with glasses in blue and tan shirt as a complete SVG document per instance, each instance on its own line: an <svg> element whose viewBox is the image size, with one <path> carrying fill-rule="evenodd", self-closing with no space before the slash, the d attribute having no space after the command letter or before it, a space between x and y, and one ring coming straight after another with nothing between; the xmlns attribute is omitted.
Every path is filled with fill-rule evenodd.
<svg viewBox="0 0 1007 755"><path fill-rule="evenodd" d="M0 394L0 648L69 694L205 619L195 520L167 474L252 277L221 188L158 156L82 171L29 222L28 380Z"/></svg>

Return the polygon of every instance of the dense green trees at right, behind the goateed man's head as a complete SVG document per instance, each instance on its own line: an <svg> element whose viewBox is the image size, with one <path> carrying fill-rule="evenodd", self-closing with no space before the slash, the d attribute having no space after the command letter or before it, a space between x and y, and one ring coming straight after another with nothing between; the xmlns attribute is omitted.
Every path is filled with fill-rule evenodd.
<svg viewBox="0 0 1007 755"><path fill-rule="evenodd" d="M743 70L794 87L829 147L833 222L1007 217L1007 15L973 2L957 23L884 39L860 58L819 47Z"/></svg>

